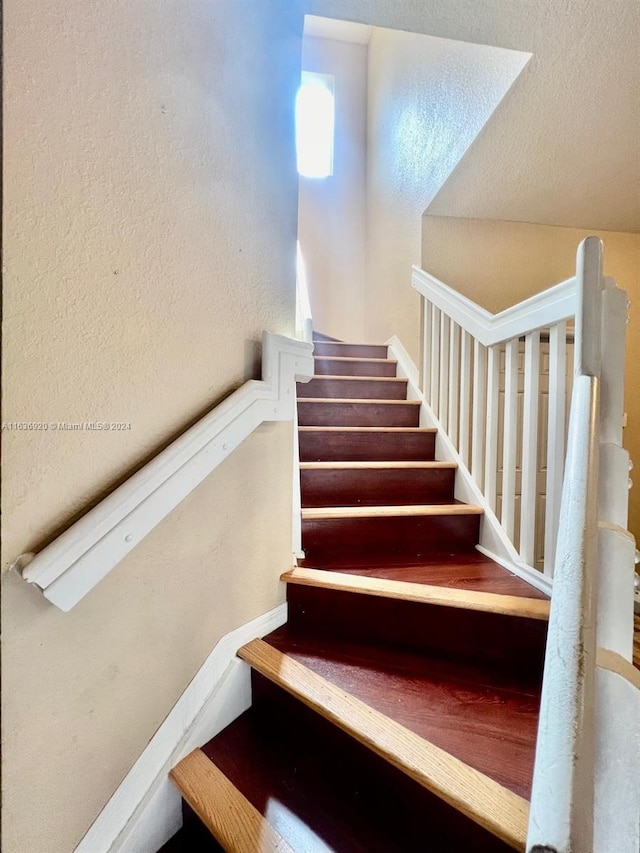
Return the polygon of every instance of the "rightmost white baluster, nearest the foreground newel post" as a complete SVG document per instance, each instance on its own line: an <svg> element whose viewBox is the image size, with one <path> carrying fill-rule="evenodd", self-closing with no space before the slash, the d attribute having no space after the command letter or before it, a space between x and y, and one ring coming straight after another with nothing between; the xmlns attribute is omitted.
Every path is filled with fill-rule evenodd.
<svg viewBox="0 0 640 853"><path fill-rule="evenodd" d="M545 501L544 572L553 577L564 472L567 324L549 330L549 415L547 426L547 495Z"/></svg>

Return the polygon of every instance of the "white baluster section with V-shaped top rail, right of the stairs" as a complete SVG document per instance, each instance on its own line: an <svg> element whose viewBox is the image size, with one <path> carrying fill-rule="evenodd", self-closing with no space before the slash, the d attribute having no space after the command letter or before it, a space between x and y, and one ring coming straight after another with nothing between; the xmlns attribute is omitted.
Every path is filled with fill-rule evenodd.
<svg viewBox="0 0 640 853"><path fill-rule="evenodd" d="M424 270L414 268L412 284L423 297L424 398L501 522L515 560L551 577L576 280L499 314Z"/></svg>

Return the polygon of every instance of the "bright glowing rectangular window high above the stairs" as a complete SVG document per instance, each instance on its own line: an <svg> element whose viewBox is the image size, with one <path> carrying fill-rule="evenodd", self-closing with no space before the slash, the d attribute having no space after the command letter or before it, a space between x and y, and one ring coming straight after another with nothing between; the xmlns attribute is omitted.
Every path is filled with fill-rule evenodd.
<svg viewBox="0 0 640 853"><path fill-rule="evenodd" d="M298 174L305 178L333 175L333 77L302 72L296 97Z"/></svg>

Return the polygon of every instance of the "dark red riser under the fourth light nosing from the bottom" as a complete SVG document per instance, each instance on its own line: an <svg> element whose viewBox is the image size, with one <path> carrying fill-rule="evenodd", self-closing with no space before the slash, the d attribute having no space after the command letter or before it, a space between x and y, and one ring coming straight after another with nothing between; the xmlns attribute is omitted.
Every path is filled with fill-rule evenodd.
<svg viewBox="0 0 640 853"><path fill-rule="evenodd" d="M471 551L479 532L479 515L303 519L302 548L307 560L336 548L422 557Z"/></svg>

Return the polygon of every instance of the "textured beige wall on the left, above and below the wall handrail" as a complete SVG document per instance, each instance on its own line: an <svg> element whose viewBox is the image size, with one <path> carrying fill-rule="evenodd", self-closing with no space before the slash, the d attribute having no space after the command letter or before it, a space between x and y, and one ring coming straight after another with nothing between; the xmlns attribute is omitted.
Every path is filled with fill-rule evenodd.
<svg viewBox="0 0 640 853"><path fill-rule="evenodd" d="M247 26L247 21L251 26ZM296 3L5 3L3 566L293 331ZM3 575L3 850L73 850L217 639L290 565L265 426L71 613Z"/></svg>

